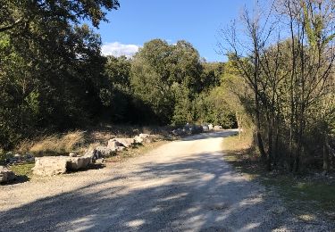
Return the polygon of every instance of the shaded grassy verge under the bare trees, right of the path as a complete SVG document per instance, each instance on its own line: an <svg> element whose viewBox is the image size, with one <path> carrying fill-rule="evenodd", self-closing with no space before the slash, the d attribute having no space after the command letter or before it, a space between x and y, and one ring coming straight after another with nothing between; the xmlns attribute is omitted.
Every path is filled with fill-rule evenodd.
<svg viewBox="0 0 335 232"><path fill-rule="evenodd" d="M257 179L269 189L276 189L290 210L304 216L301 220L306 218L313 220L316 214L335 220L333 176L326 178L318 173L294 174L275 170L268 172L260 162L259 155L250 149L250 145L250 137L224 138L224 160L249 179Z"/></svg>

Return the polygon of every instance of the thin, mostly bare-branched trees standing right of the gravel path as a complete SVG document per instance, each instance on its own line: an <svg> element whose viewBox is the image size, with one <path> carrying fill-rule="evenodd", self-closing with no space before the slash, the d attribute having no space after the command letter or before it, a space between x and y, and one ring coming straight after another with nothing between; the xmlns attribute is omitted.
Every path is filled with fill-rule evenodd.
<svg viewBox="0 0 335 232"><path fill-rule="evenodd" d="M324 122L331 119L324 116L331 112L326 99L334 91L332 8L331 1L273 2L267 14L243 14L248 37L239 35L235 25L223 30L222 49L254 93L253 104L240 103L254 119L257 144L268 170L284 160L289 170L297 171L302 156L320 152L326 144L329 132L318 128L330 131ZM324 114L320 107L327 109ZM323 141L312 142L317 133ZM286 147L289 157L280 157L278 151Z"/></svg>

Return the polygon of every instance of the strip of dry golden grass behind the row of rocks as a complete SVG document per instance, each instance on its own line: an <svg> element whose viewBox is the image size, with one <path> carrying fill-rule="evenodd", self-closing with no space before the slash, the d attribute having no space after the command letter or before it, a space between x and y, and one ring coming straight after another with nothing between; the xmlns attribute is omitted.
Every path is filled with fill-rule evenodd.
<svg viewBox="0 0 335 232"><path fill-rule="evenodd" d="M88 148L107 145L113 137L135 137L139 133L168 138L170 128L134 127L130 125L105 125L88 130L76 130L63 134L47 135L33 140L22 141L15 149L18 153L33 153L35 156L84 153Z"/></svg>

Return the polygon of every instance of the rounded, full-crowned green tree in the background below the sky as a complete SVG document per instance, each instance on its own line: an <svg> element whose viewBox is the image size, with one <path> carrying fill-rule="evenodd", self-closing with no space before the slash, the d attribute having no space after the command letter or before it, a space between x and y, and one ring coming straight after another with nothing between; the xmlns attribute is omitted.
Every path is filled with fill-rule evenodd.
<svg viewBox="0 0 335 232"><path fill-rule="evenodd" d="M200 91L201 73L199 54L189 43L178 41L176 45L169 45L154 39L134 56L130 83L134 94L151 106L159 121L171 123L173 113L180 112L176 103L185 104ZM182 116L184 120L187 114ZM177 118L181 120L180 115Z"/></svg>

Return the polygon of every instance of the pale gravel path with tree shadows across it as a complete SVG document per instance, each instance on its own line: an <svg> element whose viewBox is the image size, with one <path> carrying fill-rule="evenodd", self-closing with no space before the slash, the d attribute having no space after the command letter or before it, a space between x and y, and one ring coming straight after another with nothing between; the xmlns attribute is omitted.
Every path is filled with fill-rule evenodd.
<svg viewBox="0 0 335 232"><path fill-rule="evenodd" d="M222 137L186 137L102 170L0 186L0 231L330 230L292 219L222 160Z"/></svg>

